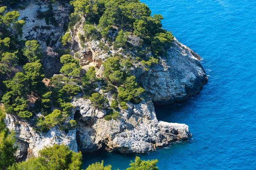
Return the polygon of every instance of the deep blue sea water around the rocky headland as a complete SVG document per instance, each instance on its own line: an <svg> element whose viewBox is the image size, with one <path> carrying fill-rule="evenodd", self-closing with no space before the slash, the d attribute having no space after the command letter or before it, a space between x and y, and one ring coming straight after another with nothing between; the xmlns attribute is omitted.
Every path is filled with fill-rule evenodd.
<svg viewBox="0 0 256 170"><path fill-rule="evenodd" d="M163 27L204 60L209 82L183 104L156 107L157 118L186 123L192 140L139 155L160 170L256 169L256 0L142 0ZM87 153L125 169L135 155Z"/></svg>

